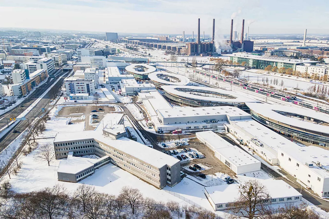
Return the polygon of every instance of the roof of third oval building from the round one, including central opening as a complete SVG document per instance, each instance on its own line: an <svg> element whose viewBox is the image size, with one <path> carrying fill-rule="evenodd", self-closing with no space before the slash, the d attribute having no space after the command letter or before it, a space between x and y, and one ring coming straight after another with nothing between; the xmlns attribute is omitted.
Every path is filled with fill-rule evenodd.
<svg viewBox="0 0 329 219"><path fill-rule="evenodd" d="M235 92L212 87L202 86L179 86L164 85L161 86L165 93L181 99L189 99L198 103L230 103L244 104L246 102L257 102L256 100L240 96Z"/></svg>

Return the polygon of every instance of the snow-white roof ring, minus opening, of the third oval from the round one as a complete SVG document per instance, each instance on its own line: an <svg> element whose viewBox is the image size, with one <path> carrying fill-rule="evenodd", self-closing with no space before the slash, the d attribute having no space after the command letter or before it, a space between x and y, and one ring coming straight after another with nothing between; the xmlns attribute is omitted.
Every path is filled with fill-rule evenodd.
<svg viewBox="0 0 329 219"><path fill-rule="evenodd" d="M242 96L237 94L236 92L219 89L219 88L212 88L212 87L201 87L201 86L183 86L183 85L162 85L162 89L164 89L165 92L188 98L198 101L211 101L211 102L217 102L217 103L246 103L246 102L258 102L257 100L250 99L248 97ZM193 89L195 90L195 93L197 90L201 90L202 92L205 92L208 96L200 96L195 93L192 93L193 91L180 91L179 89ZM217 96L212 95L209 92L216 92ZM223 94L223 96L219 96L220 94ZM225 98L225 95L230 95L233 97L233 99Z"/></svg>

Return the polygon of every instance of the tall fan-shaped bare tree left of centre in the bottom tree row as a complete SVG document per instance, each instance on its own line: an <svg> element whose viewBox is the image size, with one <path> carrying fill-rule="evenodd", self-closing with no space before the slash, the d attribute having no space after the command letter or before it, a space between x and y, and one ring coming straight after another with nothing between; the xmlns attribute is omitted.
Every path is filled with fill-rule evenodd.
<svg viewBox="0 0 329 219"><path fill-rule="evenodd" d="M143 200L143 196L138 189L128 186L122 187L118 198L124 200L130 206L133 214L135 214L136 209Z"/></svg>

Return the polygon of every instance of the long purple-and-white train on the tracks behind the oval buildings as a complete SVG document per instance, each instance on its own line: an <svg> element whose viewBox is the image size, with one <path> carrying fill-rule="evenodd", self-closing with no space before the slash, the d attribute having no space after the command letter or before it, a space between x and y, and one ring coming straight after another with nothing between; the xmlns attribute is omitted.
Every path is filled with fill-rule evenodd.
<svg viewBox="0 0 329 219"><path fill-rule="evenodd" d="M324 112L324 113L329 114L329 109L323 109L321 107L313 106L312 104L297 101L296 96L289 96L289 95L286 95L284 93L280 93L280 92L277 92L277 91L273 91L273 90L270 90L270 89L259 87L257 85L251 85L251 84L248 84L246 82L243 82L243 81L240 81L240 80L237 80L237 79L227 79L227 78L223 78L223 77L220 77L220 76L212 75L210 73L204 73L204 72L201 72L201 71L198 71L198 70L193 70L193 72L197 73L197 74L205 75L206 77L215 78L218 81L223 81L223 82L227 82L227 83L231 83L231 84L234 84L234 85L241 86L243 89L250 90L252 92L260 93L260 94L270 96L270 97L273 97L273 98L276 98L276 99L279 99L279 100L282 100L282 101L287 101L287 102L292 101L293 104L300 105L302 107L306 107L306 108L309 108L309 109L313 109L313 110L316 110L316 111L319 111L319 112Z"/></svg>

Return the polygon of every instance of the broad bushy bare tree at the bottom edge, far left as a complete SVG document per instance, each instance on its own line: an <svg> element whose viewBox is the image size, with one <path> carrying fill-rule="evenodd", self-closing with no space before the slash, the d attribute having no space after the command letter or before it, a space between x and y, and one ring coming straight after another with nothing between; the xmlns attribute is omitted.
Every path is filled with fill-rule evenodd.
<svg viewBox="0 0 329 219"><path fill-rule="evenodd" d="M30 202L42 218L63 218L68 206L68 196L62 185L55 185L32 193Z"/></svg>

